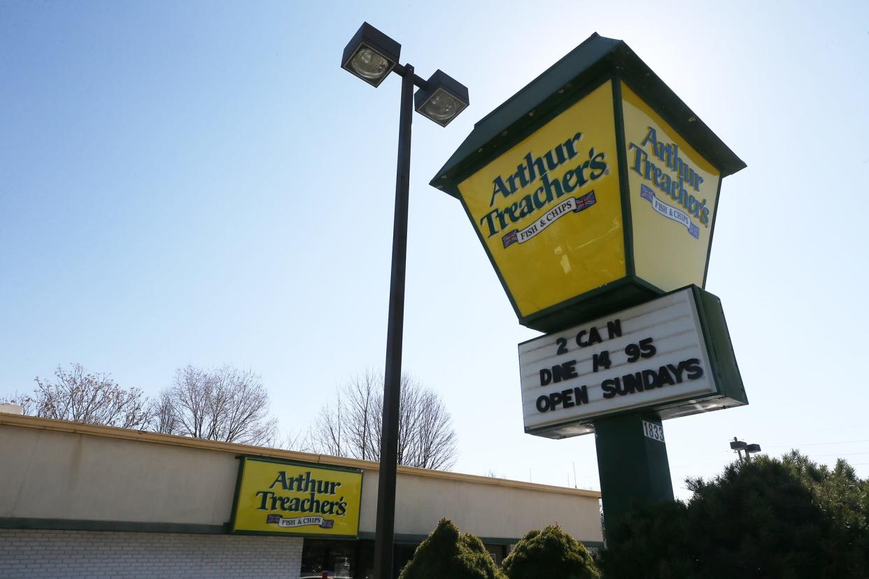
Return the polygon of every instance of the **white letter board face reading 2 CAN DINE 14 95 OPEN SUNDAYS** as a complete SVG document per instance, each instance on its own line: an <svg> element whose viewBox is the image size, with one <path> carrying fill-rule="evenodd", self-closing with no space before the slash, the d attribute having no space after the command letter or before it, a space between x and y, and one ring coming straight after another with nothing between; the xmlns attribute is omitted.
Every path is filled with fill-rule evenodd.
<svg viewBox="0 0 869 579"><path fill-rule="evenodd" d="M551 438L614 412L690 414L720 393L691 288L524 342L519 365L525 431Z"/></svg>

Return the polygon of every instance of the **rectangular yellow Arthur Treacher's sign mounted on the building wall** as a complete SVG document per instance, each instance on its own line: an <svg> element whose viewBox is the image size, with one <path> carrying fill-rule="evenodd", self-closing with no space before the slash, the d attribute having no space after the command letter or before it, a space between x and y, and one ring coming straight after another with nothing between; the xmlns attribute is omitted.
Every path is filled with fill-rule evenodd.
<svg viewBox="0 0 869 579"><path fill-rule="evenodd" d="M362 470L242 457L232 532L357 536Z"/></svg>

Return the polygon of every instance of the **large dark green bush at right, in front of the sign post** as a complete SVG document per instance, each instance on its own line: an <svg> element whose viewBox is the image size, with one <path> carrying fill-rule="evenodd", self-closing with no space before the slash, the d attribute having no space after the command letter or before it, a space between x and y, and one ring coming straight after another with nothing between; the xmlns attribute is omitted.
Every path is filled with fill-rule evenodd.
<svg viewBox="0 0 869 579"><path fill-rule="evenodd" d="M607 529L604 576L858 578L869 576L866 481L792 452L687 481L687 503L637 507Z"/></svg>

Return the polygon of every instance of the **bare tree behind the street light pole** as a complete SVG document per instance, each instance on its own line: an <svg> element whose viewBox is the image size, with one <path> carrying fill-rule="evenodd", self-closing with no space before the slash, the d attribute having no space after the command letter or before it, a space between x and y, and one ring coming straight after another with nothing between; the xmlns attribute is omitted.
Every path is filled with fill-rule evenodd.
<svg viewBox="0 0 869 579"><path fill-rule="evenodd" d="M310 432L316 451L342 457L380 460L383 378L365 372L351 378L327 402ZM448 470L455 464L452 419L436 392L408 374L401 375L398 464Z"/></svg>

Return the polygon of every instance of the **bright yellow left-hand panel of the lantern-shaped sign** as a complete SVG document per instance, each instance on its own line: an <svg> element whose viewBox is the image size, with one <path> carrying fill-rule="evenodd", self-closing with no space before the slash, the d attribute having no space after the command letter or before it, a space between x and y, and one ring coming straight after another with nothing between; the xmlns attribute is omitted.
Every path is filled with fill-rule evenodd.
<svg viewBox="0 0 869 579"><path fill-rule="evenodd" d="M521 316L625 277L607 81L458 188Z"/></svg>

